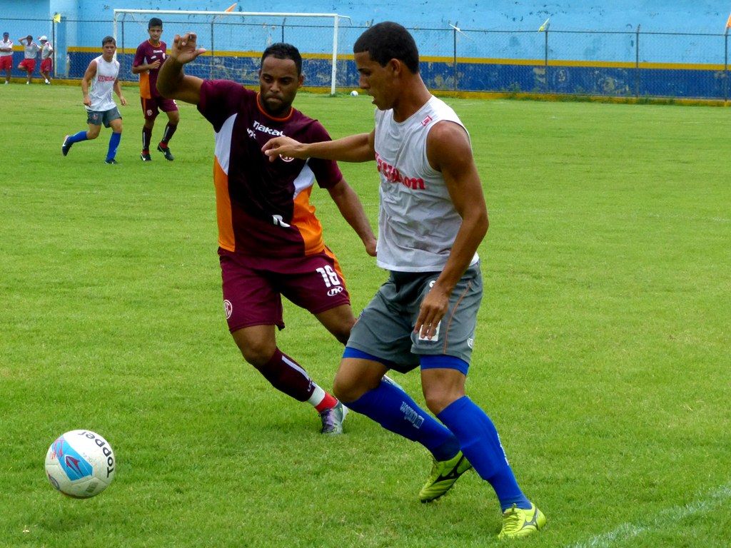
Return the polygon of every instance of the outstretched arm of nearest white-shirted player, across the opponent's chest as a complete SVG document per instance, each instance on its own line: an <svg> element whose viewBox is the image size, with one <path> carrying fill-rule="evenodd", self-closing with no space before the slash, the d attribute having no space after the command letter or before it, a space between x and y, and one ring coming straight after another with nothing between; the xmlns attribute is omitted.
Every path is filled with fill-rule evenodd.
<svg viewBox="0 0 731 548"><path fill-rule="evenodd" d="M370 161L376 159L374 139L376 130L322 142L298 142L289 137L274 137L262 151L274 161L277 156L289 158L322 158L338 161Z"/></svg>

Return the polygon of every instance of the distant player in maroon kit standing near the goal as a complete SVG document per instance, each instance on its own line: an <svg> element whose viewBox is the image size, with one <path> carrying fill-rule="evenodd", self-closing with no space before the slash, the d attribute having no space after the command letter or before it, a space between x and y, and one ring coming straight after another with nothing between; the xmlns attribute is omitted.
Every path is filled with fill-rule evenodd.
<svg viewBox="0 0 731 548"><path fill-rule="evenodd" d="M142 161L152 161L150 156L150 141L152 140L152 129L155 126L155 118L162 110L167 114L167 125L162 134L162 140L157 145L157 150L165 155L165 159L173 161L173 153L167 145L173 138L175 129L178 129L180 121L180 113L178 113L178 105L173 99L165 99L161 96L156 88L157 75L160 65L165 60L165 42L160 40L162 35L162 20L159 18L151 18L147 25L147 31L150 39L145 40L137 46L135 60L132 61L132 74L140 75L140 102L142 102L142 112L145 116L145 125L142 128L142 153L140 159Z"/></svg>

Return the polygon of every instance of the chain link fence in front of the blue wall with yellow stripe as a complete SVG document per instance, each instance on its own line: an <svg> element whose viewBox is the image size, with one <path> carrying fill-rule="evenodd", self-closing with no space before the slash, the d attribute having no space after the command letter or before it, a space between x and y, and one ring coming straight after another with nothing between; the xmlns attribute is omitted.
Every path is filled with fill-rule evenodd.
<svg viewBox="0 0 731 548"><path fill-rule="evenodd" d="M121 80L137 80L131 72L132 58L148 37L148 17L135 15L118 25ZM332 23L196 17L164 18L163 40L171 42L175 34L196 31L200 45L209 52L186 69L189 74L256 85L262 50L284 41L303 54L306 85L330 87ZM18 23L22 28L52 29L56 77L82 77L88 62L101 53L104 30L113 33L110 21ZM344 22L338 29L337 88L357 88L352 46L365 28ZM620 32L501 31L452 25L409 31L420 48L422 77L436 91L729 99L727 34L644 32L639 26ZM21 75L15 66L22 56L18 48L15 76Z"/></svg>

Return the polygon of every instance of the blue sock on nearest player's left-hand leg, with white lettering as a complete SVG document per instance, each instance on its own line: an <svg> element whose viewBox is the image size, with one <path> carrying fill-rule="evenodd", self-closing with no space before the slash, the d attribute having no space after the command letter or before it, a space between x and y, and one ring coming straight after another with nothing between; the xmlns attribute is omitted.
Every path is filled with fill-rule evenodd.
<svg viewBox="0 0 731 548"><path fill-rule="evenodd" d="M436 460L447 460L459 451L455 435L440 425L430 414L399 387L381 381L354 402L346 403L353 411L373 419L386 430L418 441L426 447Z"/></svg>

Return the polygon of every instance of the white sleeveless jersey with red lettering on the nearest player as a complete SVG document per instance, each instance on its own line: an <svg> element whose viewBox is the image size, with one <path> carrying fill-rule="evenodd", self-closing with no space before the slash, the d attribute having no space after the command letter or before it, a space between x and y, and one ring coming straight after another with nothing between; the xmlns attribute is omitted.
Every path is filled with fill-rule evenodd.
<svg viewBox="0 0 731 548"><path fill-rule="evenodd" d="M462 218L442 173L429 165L426 156L426 137L442 120L464 127L454 110L436 97L401 123L393 121L393 110L376 110L376 164L381 177L379 267L438 272L447 264ZM475 254L471 264L477 260Z"/></svg>

